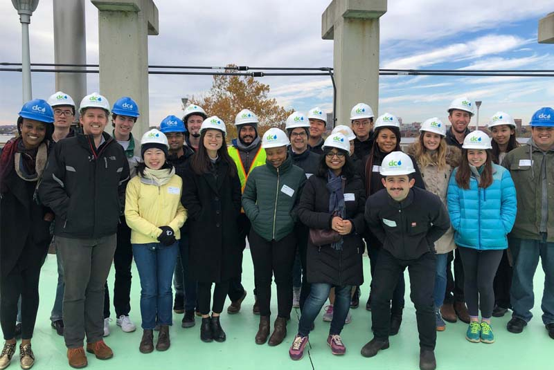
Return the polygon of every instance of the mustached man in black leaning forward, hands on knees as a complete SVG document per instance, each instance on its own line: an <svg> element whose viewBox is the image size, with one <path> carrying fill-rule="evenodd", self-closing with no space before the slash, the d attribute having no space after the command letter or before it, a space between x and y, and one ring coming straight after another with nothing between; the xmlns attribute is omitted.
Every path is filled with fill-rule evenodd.
<svg viewBox="0 0 554 370"><path fill-rule="evenodd" d="M402 151L388 154L381 165L386 189L379 190L366 202L366 223L383 243L383 250L373 275L374 337L361 349L361 355L373 357L380 349L388 348L389 302L396 277L407 267L420 335L420 369L433 370L436 369L434 242L447 232L450 219L438 196L413 187L414 172L410 157Z"/></svg>

